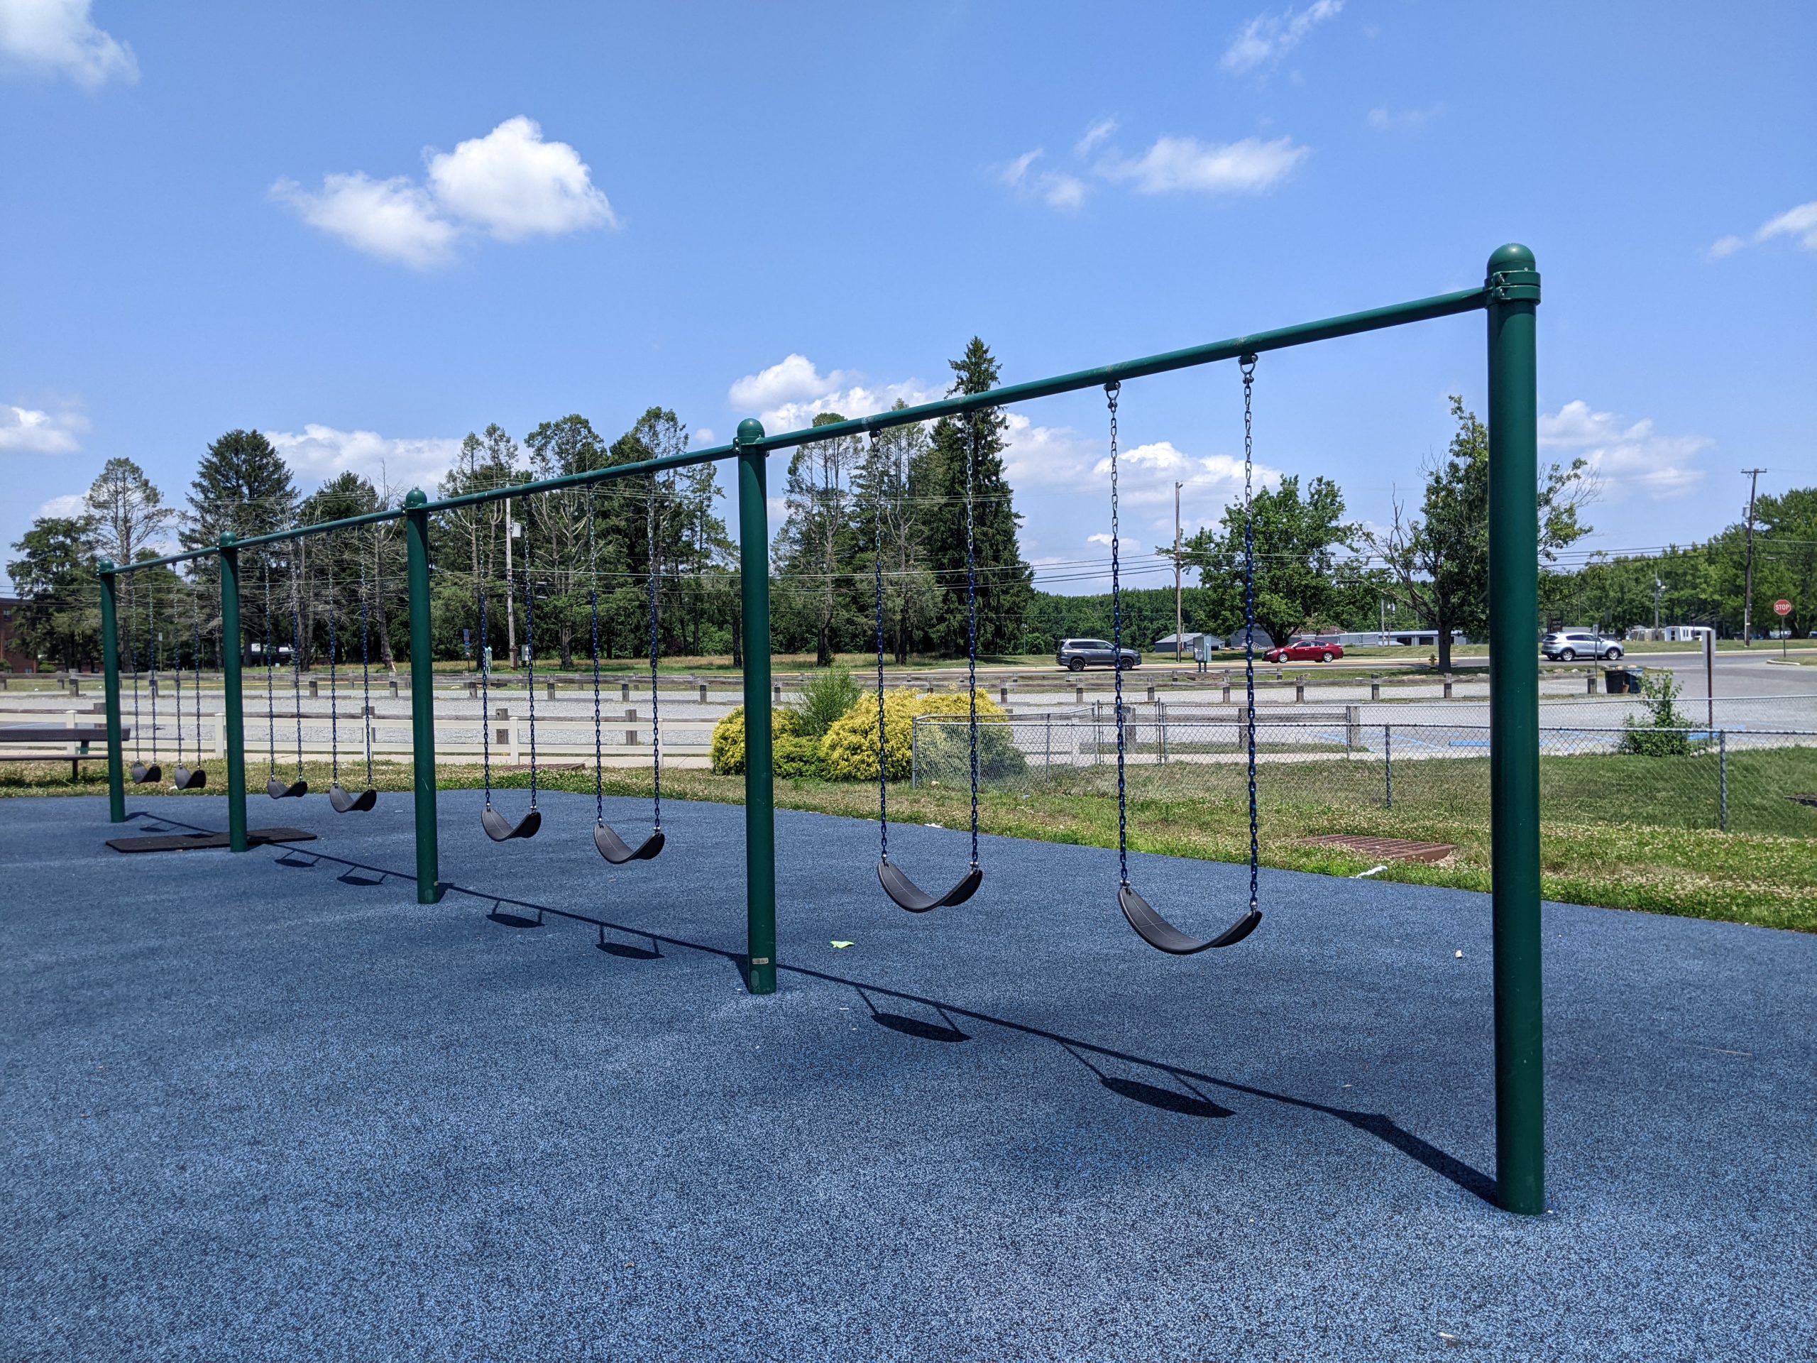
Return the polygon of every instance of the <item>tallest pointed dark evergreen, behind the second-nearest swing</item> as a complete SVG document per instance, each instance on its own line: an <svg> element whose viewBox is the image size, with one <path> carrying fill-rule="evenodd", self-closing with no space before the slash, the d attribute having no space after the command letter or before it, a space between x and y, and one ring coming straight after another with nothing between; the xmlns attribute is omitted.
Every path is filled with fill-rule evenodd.
<svg viewBox="0 0 1817 1363"><path fill-rule="evenodd" d="M950 394L987 393L998 383L998 360L990 347L972 336L965 354L950 362ZM934 423L925 454L910 467L910 496L925 516L928 569L939 582L939 605L932 636L947 654L965 652L965 507L967 460L972 460L972 525L978 572L978 649L1007 652L1023 634L1023 620L1034 598L1034 571L1023 562L1018 538L1019 516L1008 480L1003 476L1003 431L1008 427L996 407L981 407L959 418Z"/></svg>

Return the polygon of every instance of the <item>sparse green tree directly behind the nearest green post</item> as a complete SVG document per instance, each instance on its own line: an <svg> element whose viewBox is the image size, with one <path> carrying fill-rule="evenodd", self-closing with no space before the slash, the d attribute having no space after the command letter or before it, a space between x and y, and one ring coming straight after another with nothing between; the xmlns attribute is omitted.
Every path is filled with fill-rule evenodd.
<svg viewBox="0 0 1817 1363"><path fill-rule="evenodd" d="M1443 460L1426 467L1417 518L1394 503L1394 523L1374 545L1401 582L1414 611L1439 634L1439 669L1452 665L1452 631L1488 629L1488 427L1452 394L1457 431ZM1539 474L1539 556L1581 540L1590 527L1581 507L1595 494L1584 460L1546 465ZM1539 622L1534 622L1535 625Z"/></svg>

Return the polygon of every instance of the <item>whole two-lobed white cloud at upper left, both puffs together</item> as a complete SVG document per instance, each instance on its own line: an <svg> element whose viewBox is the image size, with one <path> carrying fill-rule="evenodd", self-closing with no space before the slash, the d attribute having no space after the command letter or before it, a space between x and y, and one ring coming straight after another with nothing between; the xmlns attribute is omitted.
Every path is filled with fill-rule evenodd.
<svg viewBox="0 0 1817 1363"><path fill-rule="evenodd" d="M374 180L352 171L325 174L320 193L278 180L271 198L289 204L311 227L412 269L452 264L471 233L521 242L618 225L580 153L565 142L543 142L534 118L507 118L483 138L454 151L431 147L423 158L427 187L402 174Z"/></svg>

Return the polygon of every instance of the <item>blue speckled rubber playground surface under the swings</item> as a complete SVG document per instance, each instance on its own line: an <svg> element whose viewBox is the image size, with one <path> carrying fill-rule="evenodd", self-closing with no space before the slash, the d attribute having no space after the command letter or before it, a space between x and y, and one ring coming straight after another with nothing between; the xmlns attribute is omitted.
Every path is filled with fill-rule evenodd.
<svg viewBox="0 0 1817 1363"><path fill-rule="evenodd" d="M1484 896L1265 872L1174 960L1112 852L987 838L910 916L872 825L781 812L749 998L741 811L612 869L591 800L476 807L423 907L403 796L260 798L322 840L245 856L104 847L218 798L0 801L0 1358L1817 1358L1817 938L1548 907L1512 1218ZM1203 930L1246 871L1132 880Z"/></svg>

